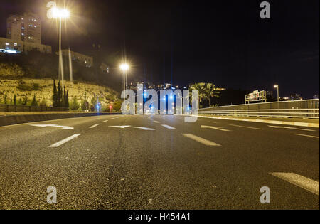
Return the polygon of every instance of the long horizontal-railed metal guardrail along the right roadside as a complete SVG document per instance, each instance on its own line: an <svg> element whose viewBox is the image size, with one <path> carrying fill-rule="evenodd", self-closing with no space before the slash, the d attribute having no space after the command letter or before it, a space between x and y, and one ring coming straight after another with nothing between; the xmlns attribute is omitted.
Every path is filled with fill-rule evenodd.
<svg viewBox="0 0 320 224"><path fill-rule="evenodd" d="M198 114L235 117L292 117L319 119L319 99L208 107L199 109Z"/></svg>

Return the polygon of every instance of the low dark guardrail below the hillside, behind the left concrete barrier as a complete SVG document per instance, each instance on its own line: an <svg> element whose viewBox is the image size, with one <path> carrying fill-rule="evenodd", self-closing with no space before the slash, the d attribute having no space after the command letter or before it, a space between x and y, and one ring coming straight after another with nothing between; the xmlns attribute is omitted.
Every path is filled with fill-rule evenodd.
<svg viewBox="0 0 320 224"><path fill-rule="evenodd" d="M68 111L66 107L45 107L27 105L0 105L0 112L43 112L43 111Z"/></svg>

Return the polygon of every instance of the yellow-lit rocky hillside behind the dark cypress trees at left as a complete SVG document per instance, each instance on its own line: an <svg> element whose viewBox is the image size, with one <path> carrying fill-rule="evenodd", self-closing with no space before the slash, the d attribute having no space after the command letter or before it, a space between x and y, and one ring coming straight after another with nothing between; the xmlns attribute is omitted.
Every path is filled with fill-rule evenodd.
<svg viewBox="0 0 320 224"><path fill-rule="evenodd" d="M57 84L57 81L55 83ZM114 104L114 102L119 100L117 97L118 93L109 87L80 81L74 83L64 81L63 85L65 86L65 90L68 90L70 102L75 98L80 104L81 100L84 100L85 93L90 105L95 100L95 96L98 96L102 108L108 107L108 105ZM53 103L53 80L50 78L0 78L0 103L4 103L5 101L8 104L13 103L14 95L16 95L17 103L23 102L25 97L28 97L28 103L30 103L33 95L36 95L38 102L43 101L50 106Z"/></svg>

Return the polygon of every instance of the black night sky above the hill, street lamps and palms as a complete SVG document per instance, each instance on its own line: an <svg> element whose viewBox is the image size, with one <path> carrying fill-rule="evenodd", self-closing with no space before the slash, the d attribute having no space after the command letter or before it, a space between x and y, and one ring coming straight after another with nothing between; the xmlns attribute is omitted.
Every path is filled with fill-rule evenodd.
<svg viewBox="0 0 320 224"><path fill-rule="evenodd" d="M33 11L42 17L42 42L57 48L47 1L0 2L0 36L9 14ZM100 43L108 61L125 49L129 80L170 82L172 70L175 85L273 90L277 83L281 96L318 94L319 1L269 1L269 20L260 18L261 2L65 0L72 17L63 45L90 54Z"/></svg>

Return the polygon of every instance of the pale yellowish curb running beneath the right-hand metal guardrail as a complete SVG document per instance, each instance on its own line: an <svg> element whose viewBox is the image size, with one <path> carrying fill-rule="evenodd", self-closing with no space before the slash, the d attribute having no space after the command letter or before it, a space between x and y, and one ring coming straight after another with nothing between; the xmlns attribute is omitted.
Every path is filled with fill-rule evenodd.
<svg viewBox="0 0 320 224"><path fill-rule="evenodd" d="M266 119L245 119L245 118L233 118L233 117L208 117L208 116L196 116L210 119L230 119L234 121L242 121L242 122L259 122L259 123L267 123L267 124L285 124L299 127L316 127L319 128L319 123L308 123L308 122L282 122L276 120L266 120Z"/></svg>

